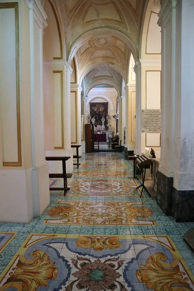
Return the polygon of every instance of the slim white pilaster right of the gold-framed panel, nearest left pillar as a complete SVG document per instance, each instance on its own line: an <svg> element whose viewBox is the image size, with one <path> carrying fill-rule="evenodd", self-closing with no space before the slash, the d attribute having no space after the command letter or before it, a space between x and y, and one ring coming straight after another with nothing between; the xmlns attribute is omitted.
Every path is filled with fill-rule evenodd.
<svg viewBox="0 0 194 291"><path fill-rule="evenodd" d="M31 51L32 194L34 215L49 205L49 166L45 160L43 101L43 29L46 14L38 0L29 2Z"/></svg>

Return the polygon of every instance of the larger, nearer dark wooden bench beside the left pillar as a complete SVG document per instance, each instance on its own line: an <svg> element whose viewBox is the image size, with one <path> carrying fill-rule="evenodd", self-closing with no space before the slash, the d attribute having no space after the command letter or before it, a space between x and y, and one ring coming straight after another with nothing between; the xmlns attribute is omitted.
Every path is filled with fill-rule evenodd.
<svg viewBox="0 0 194 291"><path fill-rule="evenodd" d="M47 161L62 161L63 165L63 174L49 174L49 178L63 178L64 179L64 188L61 187L55 187L55 188L49 188L50 191L64 191L64 196L67 191L70 190L70 188L67 187L67 178L71 178L72 174L66 173L66 161L69 160L71 157L46 157L45 159Z"/></svg>

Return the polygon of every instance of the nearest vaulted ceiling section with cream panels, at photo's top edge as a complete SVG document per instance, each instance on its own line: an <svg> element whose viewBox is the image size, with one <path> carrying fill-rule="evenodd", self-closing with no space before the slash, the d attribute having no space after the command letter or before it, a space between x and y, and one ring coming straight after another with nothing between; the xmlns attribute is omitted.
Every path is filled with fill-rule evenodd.
<svg viewBox="0 0 194 291"><path fill-rule="evenodd" d="M58 0L69 52L81 36L109 28L126 35L138 48L146 0ZM78 46L81 43L78 42Z"/></svg>

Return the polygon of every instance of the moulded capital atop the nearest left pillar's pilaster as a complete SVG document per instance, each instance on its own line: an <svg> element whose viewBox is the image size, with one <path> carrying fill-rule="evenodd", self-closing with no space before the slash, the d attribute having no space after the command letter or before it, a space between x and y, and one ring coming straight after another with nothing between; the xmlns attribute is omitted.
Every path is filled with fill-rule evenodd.
<svg viewBox="0 0 194 291"><path fill-rule="evenodd" d="M47 24L47 15L40 3L39 0L24 0L26 4L28 5L28 8L30 11L34 13L34 18L36 18L36 21L40 28L45 29Z"/></svg>

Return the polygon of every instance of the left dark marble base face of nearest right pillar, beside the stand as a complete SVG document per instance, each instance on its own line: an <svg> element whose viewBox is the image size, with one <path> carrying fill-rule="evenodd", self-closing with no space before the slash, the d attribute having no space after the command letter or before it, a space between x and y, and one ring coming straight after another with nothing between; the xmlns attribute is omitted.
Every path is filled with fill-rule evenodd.
<svg viewBox="0 0 194 291"><path fill-rule="evenodd" d="M166 215L172 214L173 178L157 172L157 203Z"/></svg>

